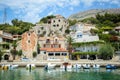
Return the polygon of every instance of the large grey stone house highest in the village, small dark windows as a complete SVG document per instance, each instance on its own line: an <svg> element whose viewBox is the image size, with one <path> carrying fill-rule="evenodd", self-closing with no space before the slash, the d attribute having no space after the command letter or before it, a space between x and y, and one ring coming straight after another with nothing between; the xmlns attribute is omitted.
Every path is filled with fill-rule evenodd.
<svg viewBox="0 0 120 80"><path fill-rule="evenodd" d="M47 23L36 24L36 26L33 27L33 30L41 37L53 35L63 36L68 26L69 23L67 19L61 15L56 15L55 18L48 20Z"/></svg>

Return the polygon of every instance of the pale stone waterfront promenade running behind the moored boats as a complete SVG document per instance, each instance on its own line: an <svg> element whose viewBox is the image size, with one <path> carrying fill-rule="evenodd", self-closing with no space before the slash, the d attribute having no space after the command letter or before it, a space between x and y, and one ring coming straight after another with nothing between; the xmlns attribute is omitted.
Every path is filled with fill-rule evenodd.
<svg viewBox="0 0 120 80"><path fill-rule="evenodd" d="M100 64L101 66L105 66L107 64L114 64L118 67L120 67L120 61L112 61L112 60L67 60L67 61L29 61L29 62L22 62L22 61L13 61L13 62L7 62L7 61L3 61L0 62L1 64L18 64L20 67L25 67L27 64L35 64L37 67L43 67L45 66L47 63L53 63L56 64L57 66L60 66L62 63L64 62L68 62L73 64Z"/></svg>

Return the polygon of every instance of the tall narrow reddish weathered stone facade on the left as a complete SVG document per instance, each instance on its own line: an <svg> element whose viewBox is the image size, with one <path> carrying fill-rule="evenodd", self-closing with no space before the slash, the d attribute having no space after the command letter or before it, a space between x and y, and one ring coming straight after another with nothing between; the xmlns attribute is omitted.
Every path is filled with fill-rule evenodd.
<svg viewBox="0 0 120 80"><path fill-rule="evenodd" d="M22 35L21 46L24 56L32 58L32 53L37 50L37 35L34 31Z"/></svg>

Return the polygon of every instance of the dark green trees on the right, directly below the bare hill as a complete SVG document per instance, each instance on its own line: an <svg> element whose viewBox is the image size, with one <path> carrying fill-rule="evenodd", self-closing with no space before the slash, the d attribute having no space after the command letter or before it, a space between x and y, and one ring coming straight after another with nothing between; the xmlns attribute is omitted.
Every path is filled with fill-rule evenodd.
<svg viewBox="0 0 120 80"><path fill-rule="evenodd" d="M96 24L97 27L116 27L120 25L120 14L108 14L104 15L97 14L96 18L86 18L82 22Z"/></svg>

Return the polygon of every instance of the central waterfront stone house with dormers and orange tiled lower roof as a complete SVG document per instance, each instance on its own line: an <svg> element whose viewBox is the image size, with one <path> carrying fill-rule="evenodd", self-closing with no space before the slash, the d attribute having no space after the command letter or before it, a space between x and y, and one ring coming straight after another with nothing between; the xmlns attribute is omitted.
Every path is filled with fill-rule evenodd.
<svg viewBox="0 0 120 80"><path fill-rule="evenodd" d="M66 40L64 37L39 37L40 54L44 55L43 60L68 58Z"/></svg>

